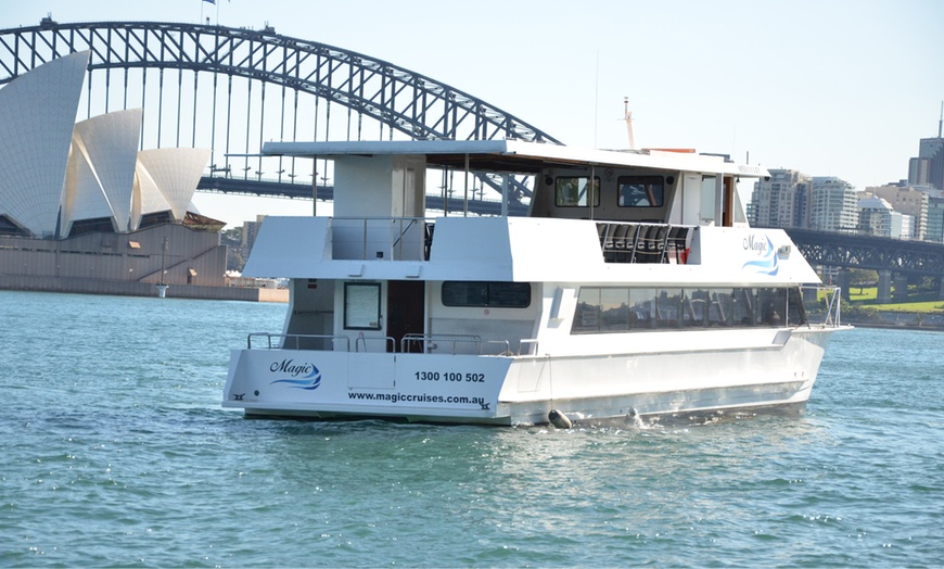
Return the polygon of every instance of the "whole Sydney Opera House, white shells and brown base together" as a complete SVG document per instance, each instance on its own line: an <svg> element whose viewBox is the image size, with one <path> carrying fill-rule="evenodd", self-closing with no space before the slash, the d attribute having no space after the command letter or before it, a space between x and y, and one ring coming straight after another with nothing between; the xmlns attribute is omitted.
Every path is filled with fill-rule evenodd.
<svg viewBox="0 0 944 569"><path fill-rule="evenodd" d="M224 224L191 204L211 151L139 151L140 109L76 123L88 62L0 89L0 289L241 298L225 288Z"/></svg>

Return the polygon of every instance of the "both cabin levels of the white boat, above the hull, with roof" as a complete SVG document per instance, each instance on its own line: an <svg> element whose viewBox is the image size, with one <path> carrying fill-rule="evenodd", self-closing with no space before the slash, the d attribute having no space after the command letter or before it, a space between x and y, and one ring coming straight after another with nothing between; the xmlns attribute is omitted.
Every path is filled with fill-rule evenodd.
<svg viewBox="0 0 944 569"><path fill-rule="evenodd" d="M736 179L766 175L756 166L676 151L575 157L573 149L511 140L268 143L264 151L330 159L334 167L333 216L267 218L245 267L292 279L277 340L286 349L521 353L536 350L523 339L550 345L572 334L745 317L760 325L760 306L770 303L784 318L790 312L782 290L742 276L726 282L726 266L742 267L724 253L711 275L691 270L712 261L700 227L747 228ZM428 168L463 180L436 219L426 217ZM468 211L473 176L501 189L502 215ZM510 215L512 197L522 195L526 212ZM723 239L741 248L740 232ZM764 258L776 261L774 244L762 240ZM671 271L676 266L689 270ZM809 273L802 278L815 279ZM581 308L594 291L625 295L617 304L625 321L602 327L599 300L594 311Z"/></svg>

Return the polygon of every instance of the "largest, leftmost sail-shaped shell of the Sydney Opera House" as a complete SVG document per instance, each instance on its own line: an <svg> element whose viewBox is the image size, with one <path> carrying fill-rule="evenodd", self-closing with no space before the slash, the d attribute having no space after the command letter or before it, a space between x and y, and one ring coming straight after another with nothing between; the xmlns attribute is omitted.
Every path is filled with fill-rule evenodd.
<svg viewBox="0 0 944 569"><path fill-rule="evenodd" d="M55 232L89 54L53 60L0 89L0 214L38 237Z"/></svg>

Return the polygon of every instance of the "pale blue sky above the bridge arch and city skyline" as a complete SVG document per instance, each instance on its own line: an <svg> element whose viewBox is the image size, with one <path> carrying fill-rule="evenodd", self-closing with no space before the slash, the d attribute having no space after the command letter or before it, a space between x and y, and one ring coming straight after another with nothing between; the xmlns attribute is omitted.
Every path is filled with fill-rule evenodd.
<svg viewBox="0 0 944 569"><path fill-rule="evenodd" d="M944 100L944 2L0 0L0 27L260 28L429 75L565 143L730 153L856 188L907 177ZM212 211L204 211L213 215Z"/></svg>

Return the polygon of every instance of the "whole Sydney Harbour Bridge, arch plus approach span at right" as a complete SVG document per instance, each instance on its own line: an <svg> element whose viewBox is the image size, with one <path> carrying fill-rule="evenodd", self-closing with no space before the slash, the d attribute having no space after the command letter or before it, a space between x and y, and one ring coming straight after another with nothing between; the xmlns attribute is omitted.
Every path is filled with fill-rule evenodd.
<svg viewBox="0 0 944 569"><path fill-rule="evenodd" d="M330 199L327 164L261 156L269 140L516 138L561 143L468 92L362 53L282 36L271 27L97 22L0 30L0 86L62 55L91 51L85 118L143 108L141 148L213 150L201 191ZM79 117L84 118L84 117ZM448 176L430 207L449 207ZM481 178L470 208L497 213ZM524 184L510 211L530 197ZM944 292L944 245L789 230L811 263L932 277Z"/></svg>

